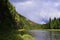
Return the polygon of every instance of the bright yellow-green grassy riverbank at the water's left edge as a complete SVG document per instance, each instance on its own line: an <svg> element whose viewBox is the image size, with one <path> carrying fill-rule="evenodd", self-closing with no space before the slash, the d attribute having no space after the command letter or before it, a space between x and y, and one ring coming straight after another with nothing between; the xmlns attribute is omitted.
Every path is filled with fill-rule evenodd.
<svg viewBox="0 0 60 40"><path fill-rule="evenodd" d="M29 30L19 29L18 31L21 32L20 37L23 40L35 40L35 38L29 33Z"/></svg>

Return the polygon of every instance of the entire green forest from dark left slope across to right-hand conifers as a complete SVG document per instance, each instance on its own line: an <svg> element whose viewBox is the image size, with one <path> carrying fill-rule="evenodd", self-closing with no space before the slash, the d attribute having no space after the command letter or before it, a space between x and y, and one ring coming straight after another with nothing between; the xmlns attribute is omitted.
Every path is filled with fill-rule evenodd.
<svg viewBox="0 0 60 40"><path fill-rule="evenodd" d="M32 38L27 30L34 29L60 29L60 18L37 24L20 15L9 0L0 0L0 40L25 40L25 34Z"/></svg>

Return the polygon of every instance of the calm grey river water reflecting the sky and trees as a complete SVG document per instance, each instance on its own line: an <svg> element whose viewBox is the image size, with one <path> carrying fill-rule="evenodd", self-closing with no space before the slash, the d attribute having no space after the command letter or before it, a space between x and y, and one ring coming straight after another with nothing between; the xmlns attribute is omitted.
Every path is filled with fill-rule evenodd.
<svg viewBox="0 0 60 40"><path fill-rule="evenodd" d="M30 30L35 40L60 40L60 32L43 31L43 30Z"/></svg>

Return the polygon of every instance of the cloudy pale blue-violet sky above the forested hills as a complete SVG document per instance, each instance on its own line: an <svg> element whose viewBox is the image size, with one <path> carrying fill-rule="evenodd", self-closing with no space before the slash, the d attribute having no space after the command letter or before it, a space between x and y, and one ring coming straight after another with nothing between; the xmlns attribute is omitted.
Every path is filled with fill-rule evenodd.
<svg viewBox="0 0 60 40"><path fill-rule="evenodd" d="M60 0L10 0L16 11L29 20L45 24L49 18L60 17Z"/></svg>

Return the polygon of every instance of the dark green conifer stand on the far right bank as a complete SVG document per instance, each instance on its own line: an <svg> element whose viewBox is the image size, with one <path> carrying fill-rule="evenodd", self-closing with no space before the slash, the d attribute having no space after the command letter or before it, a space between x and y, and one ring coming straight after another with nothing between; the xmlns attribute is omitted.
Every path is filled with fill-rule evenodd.
<svg viewBox="0 0 60 40"><path fill-rule="evenodd" d="M47 29L60 29L60 18L54 18L53 20L50 18L49 22L43 26Z"/></svg>

